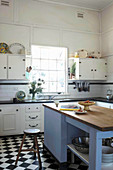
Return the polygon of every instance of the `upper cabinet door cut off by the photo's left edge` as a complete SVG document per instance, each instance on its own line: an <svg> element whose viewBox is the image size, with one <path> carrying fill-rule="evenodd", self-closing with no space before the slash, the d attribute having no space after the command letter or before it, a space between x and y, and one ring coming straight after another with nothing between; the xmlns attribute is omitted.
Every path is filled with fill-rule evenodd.
<svg viewBox="0 0 113 170"><path fill-rule="evenodd" d="M7 79L7 55L0 54L0 79Z"/></svg>

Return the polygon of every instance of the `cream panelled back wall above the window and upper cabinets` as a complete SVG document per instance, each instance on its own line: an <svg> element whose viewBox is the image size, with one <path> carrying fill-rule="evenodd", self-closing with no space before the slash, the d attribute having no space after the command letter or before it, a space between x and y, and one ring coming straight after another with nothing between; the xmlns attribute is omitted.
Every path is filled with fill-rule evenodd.
<svg viewBox="0 0 113 170"><path fill-rule="evenodd" d="M100 51L98 12L33 0L11 2L0 13L1 42L19 42L28 51L31 44L64 46L69 53ZM84 13L84 19L77 18L77 12Z"/></svg>

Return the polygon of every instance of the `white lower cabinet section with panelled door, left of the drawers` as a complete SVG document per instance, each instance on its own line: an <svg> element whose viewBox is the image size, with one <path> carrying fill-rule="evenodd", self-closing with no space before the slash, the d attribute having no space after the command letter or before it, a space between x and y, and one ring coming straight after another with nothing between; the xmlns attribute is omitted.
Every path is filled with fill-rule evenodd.
<svg viewBox="0 0 113 170"><path fill-rule="evenodd" d="M0 136L21 133L21 108L19 106L0 106L0 120Z"/></svg>

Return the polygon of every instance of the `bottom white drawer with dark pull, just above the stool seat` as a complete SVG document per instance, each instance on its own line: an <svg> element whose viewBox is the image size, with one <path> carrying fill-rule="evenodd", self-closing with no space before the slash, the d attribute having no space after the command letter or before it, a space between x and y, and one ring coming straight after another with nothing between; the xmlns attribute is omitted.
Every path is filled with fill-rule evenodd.
<svg viewBox="0 0 113 170"><path fill-rule="evenodd" d="M25 123L26 129L40 129L40 121L27 121Z"/></svg>

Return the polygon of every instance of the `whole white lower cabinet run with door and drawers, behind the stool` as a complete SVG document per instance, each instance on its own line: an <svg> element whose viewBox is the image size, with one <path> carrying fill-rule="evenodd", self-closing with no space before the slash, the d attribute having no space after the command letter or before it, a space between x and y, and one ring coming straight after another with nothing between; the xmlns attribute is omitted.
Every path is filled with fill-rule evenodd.
<svg viewBox="0 0 113 170"><path fill-rule="evenodd" d="M25 129L44 131L44 109L37 104L0 105L0 136L23 134Z"/></svg>

